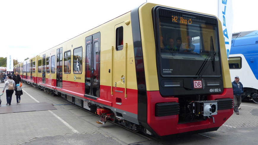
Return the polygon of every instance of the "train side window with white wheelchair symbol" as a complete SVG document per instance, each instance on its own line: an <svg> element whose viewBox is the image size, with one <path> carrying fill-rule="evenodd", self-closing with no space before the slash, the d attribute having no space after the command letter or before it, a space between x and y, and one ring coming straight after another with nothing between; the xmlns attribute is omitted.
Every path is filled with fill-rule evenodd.
<svg viewBox="0 0 258 145"><path fill-rule="evenodd" d="M82 47L74 49L73 73L82 73Z"/></svg>

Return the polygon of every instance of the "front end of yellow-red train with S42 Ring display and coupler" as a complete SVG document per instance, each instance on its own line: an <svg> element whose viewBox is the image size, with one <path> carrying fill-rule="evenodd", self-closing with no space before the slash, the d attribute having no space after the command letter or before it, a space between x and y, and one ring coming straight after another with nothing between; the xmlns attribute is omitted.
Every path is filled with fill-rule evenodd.
<svg viewBox="0 0 258 145"><path fill-rule="evenodd" d="M142 59L135 58L144 65L136 67L138 120L146 133L216 131L233 113L220 21L212 15L150 3L131 15L137 12ZM133 38L136 44L136 33Z"/></svg>

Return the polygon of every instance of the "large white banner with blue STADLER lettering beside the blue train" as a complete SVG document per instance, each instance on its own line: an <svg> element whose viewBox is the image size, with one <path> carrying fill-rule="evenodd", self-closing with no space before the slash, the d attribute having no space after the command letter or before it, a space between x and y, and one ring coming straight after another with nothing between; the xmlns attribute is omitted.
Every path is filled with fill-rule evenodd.
<svg viewBox="0 0 258 145"><path fill-rule="evenodd" d="M222 23L222 30L228 58L231 47L233 25L232 0L218 0L218 17Z"/></svg>

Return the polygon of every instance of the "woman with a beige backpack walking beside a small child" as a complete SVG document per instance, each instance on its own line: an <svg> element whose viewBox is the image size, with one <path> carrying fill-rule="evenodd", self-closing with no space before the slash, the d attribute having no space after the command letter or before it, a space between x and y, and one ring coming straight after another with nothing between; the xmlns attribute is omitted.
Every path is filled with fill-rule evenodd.
<svg viewBox="0 0 258 145"><path fill-rule="evenodd" d="M7 76L7 81L4 83L4 88L3 88L3 93L4 93L4 89L7 87L6 89L6 105L11 105L12 102L12 94L14 92L14 88L15 88L15 82L14 80L12 80L12 76L8 75Z"/></svg>

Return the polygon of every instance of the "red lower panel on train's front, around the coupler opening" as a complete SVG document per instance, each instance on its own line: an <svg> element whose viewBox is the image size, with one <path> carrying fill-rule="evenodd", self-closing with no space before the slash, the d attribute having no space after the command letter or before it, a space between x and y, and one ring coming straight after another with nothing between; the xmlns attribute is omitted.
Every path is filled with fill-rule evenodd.
<svg viewBox="0 0 258 145"><path fill-rule="evenodd" d="M224 88L222 94L211 95L208 100L216 100L223 98L233 99L232 88ZM217 115L214 115L215 123L211 118L204 121L182 123L178 124L178 115L170 116L155 116L155 104L162 102L178 102L178 98L164 98L160 95L159 91L148 91L147 92L147 123L159 136L184 133L190 131L198 131L207 128L220 127L232 114L233 109L218 110Z"/></svg>

